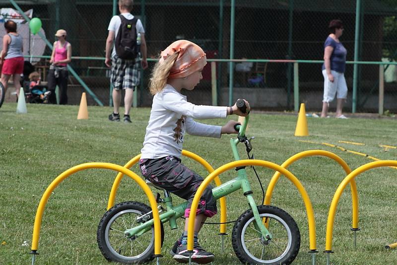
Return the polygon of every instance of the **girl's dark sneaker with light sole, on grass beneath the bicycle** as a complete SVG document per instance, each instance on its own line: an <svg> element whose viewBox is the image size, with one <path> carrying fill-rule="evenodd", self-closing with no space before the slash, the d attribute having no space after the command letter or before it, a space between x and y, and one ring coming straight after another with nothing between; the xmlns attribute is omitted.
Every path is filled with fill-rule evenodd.
<svg viewBox="0 0 397 265"><path fill-rule="evenodd" d="M174 255L174 260L179 263L189 263L189 253L188 253L188 246L181 246L177 247L177 252ZM199 243L196 243L193 248L192 254L192 262L198 264L206 264L213 262L215 260L215 256L211 252L205 251L203 248L200 247Z"/></svg>

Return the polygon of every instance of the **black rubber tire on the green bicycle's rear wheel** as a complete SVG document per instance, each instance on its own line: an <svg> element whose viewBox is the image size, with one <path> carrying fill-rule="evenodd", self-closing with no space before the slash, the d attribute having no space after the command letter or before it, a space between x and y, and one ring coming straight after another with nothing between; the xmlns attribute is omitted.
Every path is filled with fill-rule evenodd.
<svg viewBox="0 0 397 265"><path fill-rule="evenodd" d="M99 225L98 225L98 230L97 230L97 242L98 242L98 248L101 251L102 255L105 257L106 260L108 261L113 261L113 262L119 262L119 263L127 263L127 264L144 264L148 263L151 260L153 260L153 254L154 254L154 244L152 247L147 251L145 255L142 257L135 259L135 260L127 260L127 259L122 259L120 257L115 256L109 249L109 246L106 244L105 240L105 229L107 227L107 224L109 221L112 219L113 216L115 216L117 213L123 210L129 210L129 209L134 209L141 211L142 213L147 213L151 211L151 208L141 202L138 201L124 201L121 203L116 204L112 208L110 208L108 211L105 212L103 217L101 218ZM163 245L164 241L164 228L163 224L160 223L161 227L161 245Z"/></svg>

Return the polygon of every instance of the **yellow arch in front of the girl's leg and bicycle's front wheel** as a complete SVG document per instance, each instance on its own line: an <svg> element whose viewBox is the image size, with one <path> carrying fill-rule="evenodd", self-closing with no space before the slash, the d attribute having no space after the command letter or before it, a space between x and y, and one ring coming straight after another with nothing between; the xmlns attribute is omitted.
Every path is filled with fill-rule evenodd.
<svg viewBox="0 0 397 265"><path fill-rule="evenodd" d="M281 172L281 174L285 175L296 186L296 188L298 188L306 206L307 218L309 223L310 250L311 251L316 250L316 224L314 221L313 206L305 188L302 186L299 180L285 168L269 161L257 160L257 159L246 159L246 160L239 160L239 161L227 163L217 168L214 172L209 174L204 179L204 181L201 183L199 189L196 192L195 198L193 199L191 206L189 223L188 223L188 250L190 251L193 250L193 237L194 237L196 210L197 210L197 206L199 205L199 200L202 195L202 192L209 185L209 183L215 178L215 176L218 176L219 174L231 168L240 167L240 166L263 166L273 169L275 171L279 171Z"/></svg>

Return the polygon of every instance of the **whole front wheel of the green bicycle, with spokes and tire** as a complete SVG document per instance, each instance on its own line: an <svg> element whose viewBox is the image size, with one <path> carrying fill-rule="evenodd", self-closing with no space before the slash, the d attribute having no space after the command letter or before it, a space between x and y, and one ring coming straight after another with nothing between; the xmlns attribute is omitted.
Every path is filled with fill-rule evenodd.
<svg viewBox="0 0 397 265"><path fill-rule="evenodd" d="M234 252L244 264L291 264L298 255L301 236L294 219L284 210L259 205L259 215L268 224L272 238L265 240L255 227L251 209L237 219L232 232Z"/></svg>

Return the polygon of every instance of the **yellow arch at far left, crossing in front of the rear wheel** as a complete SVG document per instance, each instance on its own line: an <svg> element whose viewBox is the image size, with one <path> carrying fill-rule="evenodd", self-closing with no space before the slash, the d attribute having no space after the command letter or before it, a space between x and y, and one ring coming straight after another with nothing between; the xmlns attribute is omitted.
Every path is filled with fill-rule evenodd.
<svg viewBox="0 0 397 265"><path fill-rule="evenodd" d="M61 175L59 175L53 182L48 186L47 190L44 192L43 196L40 199L39 206L37 207L36 218L34 220L33 226L33 238L32 238L32 252L36 252L39 245L39 237L40 237L40 227L41 221L43 218L44 208L47 204L48 199L50 198L54 189L68 176L78 171L89 169L89 168L104 168L104 169L113 169L118 172L122 172L123 174L132 178L145 192L147 199L150 202L150 207L153 211L153 219L154 219L154 254L160 255L161 254L161 232L160 232L160 218L157 210L157 202L154 199L153 193L151 192L149 186L135 173L131 170L111 163L84 163L68 170L64 171Z"/></svg>

